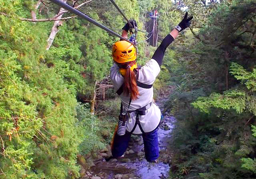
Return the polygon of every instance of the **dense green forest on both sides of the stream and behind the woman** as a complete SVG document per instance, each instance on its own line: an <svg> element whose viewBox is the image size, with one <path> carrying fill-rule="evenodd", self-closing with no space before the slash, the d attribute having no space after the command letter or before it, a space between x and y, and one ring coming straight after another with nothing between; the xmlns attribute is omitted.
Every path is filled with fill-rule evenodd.
<svg viewBox="0 0 256 179"><path fill-rule="evenodd" d="M61 1L119 34L126 23L110 1ZM170 178L256 178L256 1L116 3L143 31L157 9L158 44L184 11L194 16L154 83L177 119ZM48 0L0 0L0 178L79 178L78 156L110 143L118 39ZM155 49L140 43L138 63Z"/></svg>

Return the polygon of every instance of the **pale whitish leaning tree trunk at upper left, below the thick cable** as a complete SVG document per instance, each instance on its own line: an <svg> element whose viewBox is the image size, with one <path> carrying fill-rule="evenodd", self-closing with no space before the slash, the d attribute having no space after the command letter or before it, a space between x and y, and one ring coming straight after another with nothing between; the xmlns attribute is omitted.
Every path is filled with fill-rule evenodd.
<svg viewBox="0 0 256 179"><path fill-rule="evenodd" d="M62 1L63 3L66 3L67 0L60 0ZM64 8L60 8L58 14L60 14L56 19L60 19L63 15L63 12L65 12L66 9ZM58 33L59 31L59 27L62 25L62 21L61 20L56 20L54 21L54 24L53 24L53 27L52 27L52 30L51 30L51 34L49 35L49 38L47 40L47 47L46 47L46 50L49 50L51 45L52 45L52 42L56 36L56 34Z"/></svg>

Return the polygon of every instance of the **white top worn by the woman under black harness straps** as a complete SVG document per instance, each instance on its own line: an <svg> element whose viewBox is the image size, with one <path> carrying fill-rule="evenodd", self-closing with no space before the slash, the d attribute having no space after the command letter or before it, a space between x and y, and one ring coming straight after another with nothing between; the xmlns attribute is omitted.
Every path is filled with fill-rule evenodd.
<svg viewBox="0 0 256 179"><path fill-rule="evenodd" d="M156 60L151 59L139 70L138 81L143 84L153 84L159 72L160 72L159 64L157 63ZM117 91L123 84L123 76L120 74L119 67L117 66L117 64L114 64L112 66L110 70L110 78L113 82L115 91ZM139 109L153 101L153 94L154 94L153 87L146 89L138 86L138 90L140 95L138 96L138 99L132 100L129 110ZM120 98L123 104L123 110L126 111L129 105L130 96L125 96L122 93L120 95ZM151 132L157 128L160 122L161 111L155 103L152 103L151 107L148 108L145 111L145 113L146 113L145 115L139 116L139 121L144 132ZM129 118L129 120L127 121L127 128L126 128L126 130L129 132L132 131L136 121L136 115L131 114L131 116L133 117ZM138 125L136 126L133 133L134 134L142 133Z"/></svg>

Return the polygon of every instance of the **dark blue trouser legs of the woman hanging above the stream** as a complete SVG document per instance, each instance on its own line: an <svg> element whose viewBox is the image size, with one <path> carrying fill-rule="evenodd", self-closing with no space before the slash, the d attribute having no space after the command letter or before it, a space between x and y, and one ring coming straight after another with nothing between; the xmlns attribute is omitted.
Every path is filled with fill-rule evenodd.
<svg viewBox="0 0 256 179"><path fill-rule="evenodd" d="M126 131L125 135L118 136L115 132L113 144L112 144L112 155L113 158L118 158L122 156L125 152L126 148L129 145L129 141L131 139L131 133ZM158 137L157 137L157 129L142 133L143 143L144 143L144 151L145 158L148 162L152 162L159 157L159 148L158 148Z"/></svg>

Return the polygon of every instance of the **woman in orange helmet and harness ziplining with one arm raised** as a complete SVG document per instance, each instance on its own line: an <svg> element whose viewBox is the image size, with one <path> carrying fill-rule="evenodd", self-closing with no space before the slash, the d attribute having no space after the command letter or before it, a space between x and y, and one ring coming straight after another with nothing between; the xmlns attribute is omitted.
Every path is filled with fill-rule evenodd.
<svg viewBox="0 0 256 179"><path fill-rule="evenodd" d="M175 29L170 32L155 51L152 59L141 68L137 65L137 53L130 42L120 40L113 45L114 65L110 77L116 93L121 98L118 127L112 141L112 158L123 156L132 134L142 134L145 159L156 162L159 157L157 128L161 111L153 100L153 83L160 72L166 48L178 36L179 32L190 26L187 12ZM131 27L126 23L122 28L122 37L127 39Z"/></svg>

